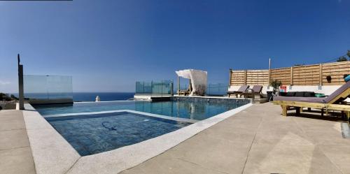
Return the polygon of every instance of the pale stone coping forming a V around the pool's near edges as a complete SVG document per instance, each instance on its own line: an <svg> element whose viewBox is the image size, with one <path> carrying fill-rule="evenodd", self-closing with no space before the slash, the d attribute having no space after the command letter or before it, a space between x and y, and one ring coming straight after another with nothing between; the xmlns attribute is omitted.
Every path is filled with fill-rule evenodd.
<svg viewBox="0 0 350 174"><path fill-rule="evenodd" d="M36 173L120 173L179 145L200 131L239 113L252 103L228 110L162 136L116 150L81 157L78 152L41 116L25 105L25 125ZM103 111L106 112L106 111ZM107 111L108 112L108 111ZM134 111L139 112L139 111ZM144 114L143 112L141 112Z"/></svg>

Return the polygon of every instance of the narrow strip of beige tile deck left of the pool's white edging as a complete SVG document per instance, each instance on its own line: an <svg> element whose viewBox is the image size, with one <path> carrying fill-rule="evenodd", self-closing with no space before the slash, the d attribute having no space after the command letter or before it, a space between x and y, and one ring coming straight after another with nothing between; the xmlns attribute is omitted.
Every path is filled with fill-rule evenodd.
<svg viewBox="0 0 350 174"><path fill-rule="evenodd" d="M35 173L25 121L20 110L0 110L0 173Z"/></svg>

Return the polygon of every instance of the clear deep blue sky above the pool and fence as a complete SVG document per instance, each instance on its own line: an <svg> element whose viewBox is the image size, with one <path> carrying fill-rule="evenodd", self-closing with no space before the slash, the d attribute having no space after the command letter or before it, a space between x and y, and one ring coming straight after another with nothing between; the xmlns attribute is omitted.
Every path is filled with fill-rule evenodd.
<svg viewBox="0 0 350 174"><path fill-rule="evenodd" d="M174 71L318 64L350 50L350 0L0 1L0 92L25 74L71 75L73 92L134 92Z"/></svg>

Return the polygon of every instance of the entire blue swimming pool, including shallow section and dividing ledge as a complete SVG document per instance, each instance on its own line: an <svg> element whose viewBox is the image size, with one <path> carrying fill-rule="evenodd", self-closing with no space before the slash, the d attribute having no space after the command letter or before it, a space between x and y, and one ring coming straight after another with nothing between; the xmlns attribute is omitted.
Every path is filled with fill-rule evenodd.
<svg viewBox="0 0 350 174"><path fill-rule="evenodd" d="M172 97L170 101L76 102L34 108L80 156L86 156L156 138L250 102Z"/></svg>

